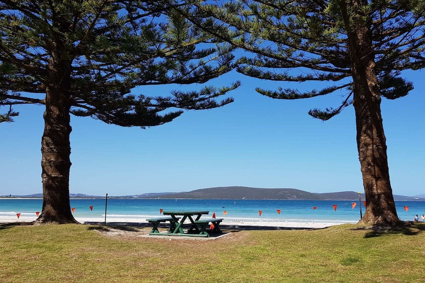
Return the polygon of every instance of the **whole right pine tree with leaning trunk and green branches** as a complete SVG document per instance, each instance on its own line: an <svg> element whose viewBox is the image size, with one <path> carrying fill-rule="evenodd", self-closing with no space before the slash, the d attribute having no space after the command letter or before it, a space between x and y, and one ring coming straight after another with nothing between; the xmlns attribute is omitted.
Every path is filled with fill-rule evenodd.
<svg viewBox="0 0 425 283"><path fill-rule="evenodd" d="M339 106L312 109L309 114L325 121L354 106L367 202L359 223L396 226L400 220L390 185L380 104L382 97L396 99L413 89L411 82L400 77L401 71L424 67L424 2L198 0L193 16L184 10L180 13L194 25L248 51L251 56L241 58L237 68L247 76L281 82L332 82L306 93L256 88L260 94L299 99L345 90Z"/></svg>

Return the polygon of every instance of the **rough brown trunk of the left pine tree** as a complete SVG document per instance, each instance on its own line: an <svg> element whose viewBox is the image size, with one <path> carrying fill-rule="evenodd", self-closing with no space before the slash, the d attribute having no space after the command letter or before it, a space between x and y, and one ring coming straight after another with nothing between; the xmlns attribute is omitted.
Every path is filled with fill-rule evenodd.
<svg viewBox="0 0 425 283"><path fill-rule="evenodd" d="M60 52L58 52L59 54ZM69 62L49 61L44 133L41 139L43 208L35 223L78 223L70 207L70 68Z"/></svg>

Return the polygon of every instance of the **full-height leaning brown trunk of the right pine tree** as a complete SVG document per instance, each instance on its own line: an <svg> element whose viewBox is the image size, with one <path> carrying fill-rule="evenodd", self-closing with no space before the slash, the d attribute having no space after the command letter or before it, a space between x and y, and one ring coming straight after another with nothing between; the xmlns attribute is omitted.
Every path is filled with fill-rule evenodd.
<svg viewBox="0 0 425 283"><path fill-rule="evenodd" d="M375 55L369 28L371 20L367 15L361 14L361 7L356 6L358 2L351 4L351 11L356 13L354 21L349 18L347 2L341 0L350 44L357 150L366 197L366 212L359 223L396 226L400 220L390 185L387 144L381 117L381 96L374 70Z"/></svg>

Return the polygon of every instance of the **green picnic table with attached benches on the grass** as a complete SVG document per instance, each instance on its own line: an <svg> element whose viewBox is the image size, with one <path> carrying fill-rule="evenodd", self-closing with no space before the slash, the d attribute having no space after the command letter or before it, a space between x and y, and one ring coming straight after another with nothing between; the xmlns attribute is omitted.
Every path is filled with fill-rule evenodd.
<svg viewBox="0 0 425 283"><path fill-rule="evenodd" d="M202 215L209 214L209 211L163 211L163 215L168 215L167 217L155 219L149 219L148 221L154 225L150 235L157 235L159 231L157 230L158 224L161 222L170 222L167 235L184 235L184 236L195 236L195 237L210 237L210 233L220 233L219 228L222 218L212 218L201 220ZM189 223L184 223L186 220L189 220ZM207 231L213 224L213 229L210 233ZM186 231L183 228L187 228Z"/></svg>

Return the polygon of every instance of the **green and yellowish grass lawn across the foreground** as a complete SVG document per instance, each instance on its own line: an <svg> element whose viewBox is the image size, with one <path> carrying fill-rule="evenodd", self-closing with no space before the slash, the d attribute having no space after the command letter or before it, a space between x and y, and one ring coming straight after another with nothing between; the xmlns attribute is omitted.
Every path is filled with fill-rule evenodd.
<svg viewBox="0 0 425 283"><path fill-rule="evenodd" d="M0 224L1 283L424 283L425 224L374 232L235 231L216 240L148 228Z"/></svg>

